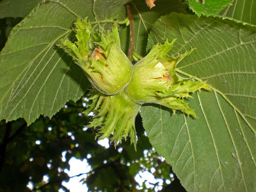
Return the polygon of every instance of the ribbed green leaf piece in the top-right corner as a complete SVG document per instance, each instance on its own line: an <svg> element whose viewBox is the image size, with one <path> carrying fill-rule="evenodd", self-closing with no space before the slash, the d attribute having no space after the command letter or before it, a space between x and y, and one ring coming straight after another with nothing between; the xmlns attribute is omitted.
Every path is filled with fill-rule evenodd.
<svg viewBox="0 0 256 192"><path fill-rule="evenodd" d="M233 0L232 5L225 7L220 15L256 25L256 2Z"/></svg>

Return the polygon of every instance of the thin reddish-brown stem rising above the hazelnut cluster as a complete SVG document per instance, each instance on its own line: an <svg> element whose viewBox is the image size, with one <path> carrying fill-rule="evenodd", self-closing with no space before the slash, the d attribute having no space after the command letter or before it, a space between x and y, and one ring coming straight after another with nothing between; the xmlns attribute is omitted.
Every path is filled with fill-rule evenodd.
<svg viewBox="0 0 256 192"><path fill-rule="evenodd" d="M127 10L127 17L130 20L130 47L129 47L127 57L132 62L132 60L133 60L132 51L135 50L135 47L134 47L134 22L133 22L133 17L132 17L131 4L126 4L126 10Z"/></svg>

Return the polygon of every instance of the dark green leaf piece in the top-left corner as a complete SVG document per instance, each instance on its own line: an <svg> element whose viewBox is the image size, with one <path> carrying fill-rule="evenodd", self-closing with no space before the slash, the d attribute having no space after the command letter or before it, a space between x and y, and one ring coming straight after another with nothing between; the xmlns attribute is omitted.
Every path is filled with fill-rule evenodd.
<svg viewBox="0 0 256 192"><path fill-rule="evenodd" d="M26 17L41 0L3 0L0 2L0 18Z"/></svg>

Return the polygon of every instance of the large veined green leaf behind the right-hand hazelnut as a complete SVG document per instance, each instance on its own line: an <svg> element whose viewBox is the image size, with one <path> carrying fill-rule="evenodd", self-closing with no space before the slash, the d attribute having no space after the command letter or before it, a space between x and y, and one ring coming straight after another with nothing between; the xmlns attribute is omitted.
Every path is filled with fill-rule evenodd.
<svg viewBox="0 0 256 192"><path fill-rule="evenodd" d="M230 20L170 14L153 26L148 46L177 38L171 54L196 50L177 72L213 91L189 98L198 118L162 106L141 108L153 147L188 191L255 191L256 29Z"/></svg>

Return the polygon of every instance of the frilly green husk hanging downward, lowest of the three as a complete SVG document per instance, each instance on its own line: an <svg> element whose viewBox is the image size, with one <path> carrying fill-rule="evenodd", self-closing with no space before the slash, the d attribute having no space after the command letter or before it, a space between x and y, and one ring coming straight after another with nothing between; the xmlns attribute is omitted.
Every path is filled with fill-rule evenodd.
<svg viewBox="0 0 256 192"><path fill-rule="evenodd" d="M122 142L129 136L136 148L135 117L141 105L131 100L124 91L115 95L104 95L97 90L91 90L92 105L84 111L85 115L94 113L93 121L87 127L99 127L96 137L109 138L111 142ZM113 135L112 135L113 134Z"/></svg>

